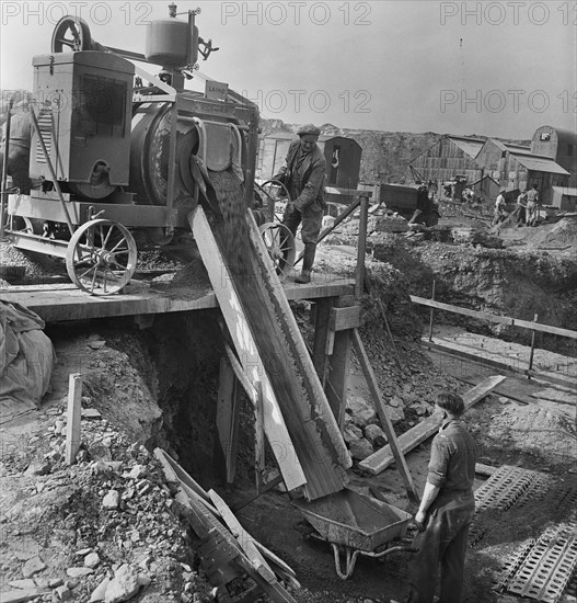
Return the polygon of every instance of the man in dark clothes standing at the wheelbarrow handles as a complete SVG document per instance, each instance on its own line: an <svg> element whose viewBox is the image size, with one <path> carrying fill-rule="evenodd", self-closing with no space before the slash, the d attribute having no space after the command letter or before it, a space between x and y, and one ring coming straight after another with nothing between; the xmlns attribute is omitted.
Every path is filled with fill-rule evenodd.
<svg viewBox="0 0 577 603"><path fill-rule="evenodd" d="M460 420L463 399L439 394L442 424L432 440L427 483L415 523L419 551L411 561L409 603L432 603L440 565L439 603L461 603L469 526L475 513L476 451Z"/></svg>

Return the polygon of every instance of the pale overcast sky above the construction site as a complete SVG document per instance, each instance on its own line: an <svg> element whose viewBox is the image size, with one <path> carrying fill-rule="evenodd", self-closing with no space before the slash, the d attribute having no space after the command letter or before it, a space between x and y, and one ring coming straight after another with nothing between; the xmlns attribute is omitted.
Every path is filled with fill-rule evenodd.
<svg viewBox="0 0 577 603"><path fill-rule="evenodd" d="M1 88L32 90L32 57L49 54L64 14L142 53L146 22L169 3L1 0ZM200 36L220 48L201 71L265 117L504 138L577 130L575 0L176 3L201 9Z"/></svg>

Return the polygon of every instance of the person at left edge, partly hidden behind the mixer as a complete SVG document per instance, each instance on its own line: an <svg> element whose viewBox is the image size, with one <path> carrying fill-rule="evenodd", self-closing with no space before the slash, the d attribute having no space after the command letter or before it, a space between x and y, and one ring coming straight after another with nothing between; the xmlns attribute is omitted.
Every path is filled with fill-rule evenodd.
<svg viewBox="0 0 577 603"><path fill-rule="evenodd" d="M0 166L3 166L5 149L5 126L2 126ZM8 141L7 172L12 177L13 185L21 194L30 195L30 146L32 141L32 116L27 101L18 102L12 109L10 120L10 140ZM1 170L1 168L0 168Z"/></svg>

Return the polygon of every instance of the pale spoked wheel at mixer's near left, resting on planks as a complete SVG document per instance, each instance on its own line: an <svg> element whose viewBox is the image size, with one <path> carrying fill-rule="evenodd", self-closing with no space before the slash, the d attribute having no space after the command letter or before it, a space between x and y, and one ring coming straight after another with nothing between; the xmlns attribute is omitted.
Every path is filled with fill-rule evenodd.
<svg viewBox="0 0 577 603"><path fill-rule="evenodd" d="M136 270L137 248L129 230L116 221L95 219L73 234L66 269L77 287L91 295L111 295L128 284Z"/></svg>

